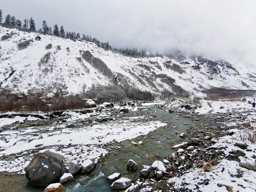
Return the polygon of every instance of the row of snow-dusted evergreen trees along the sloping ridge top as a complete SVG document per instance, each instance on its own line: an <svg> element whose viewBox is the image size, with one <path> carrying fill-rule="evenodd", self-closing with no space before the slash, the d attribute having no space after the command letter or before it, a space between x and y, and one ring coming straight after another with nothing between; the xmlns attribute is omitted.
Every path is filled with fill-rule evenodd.
<svg viewBox="0 0 256 192"><path fill-rule="evenodd" d="M138 51L137 49L128 49L127 47L126 49L112 48L111 45L109 45L109 42L100 42L97 38L95 37L92 38L89 35L83 34L81 37L79 33L68 32L68 31L67 33L65 33L64 27L61 26L59 28L57 24L53 26L53 30L52 30L52 28L47 25L47 22L45 20L42 21L42 28L40 28L37 31L35 20L33 19L33 17L31 17L30 19L24 19L23 25L22 25L21 20L16 19L14 16L10 14L7 14L3 22L2 9L0 9L0 25L7 28L17 28L22 31L38 32L39 34L44 34L44 35L54 35L62 38L69 38L69 39L72 39L73 41L76 41L76 39L82 39L88 42L95 43L98 47L101 47L105 50L113 50L113 51L120 52L132 57L143 58L143 57L162 57L163 56L162 54L158 54L158 52L156 54L153 54L152 52L147 53L146 50Z"/></svg>

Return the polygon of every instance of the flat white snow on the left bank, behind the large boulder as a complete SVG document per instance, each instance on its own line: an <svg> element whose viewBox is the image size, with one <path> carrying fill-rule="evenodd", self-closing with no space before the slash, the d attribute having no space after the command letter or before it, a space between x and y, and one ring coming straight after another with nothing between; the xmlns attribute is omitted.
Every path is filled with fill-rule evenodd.
<svg viewBox="0 0 256 192"><path fill-rule="evenodd" d="M136 107L134 109L137 110ZM50 148L51 151L65 156L68 162L76 158L98 159L108 153L106 148L103 148L103 144L133 139L165 125L165 123L157 121L134 124L131 122L131 119L145 117L131 117L121 118L100 125L95 124L93 126L67 128L66 126L69 122L84 119L89 117L89 115L75 112L66 112L66 115L70 115L67 119L67 123L59 124L56 127L32 126L26 129L13 129L1 132L0 156L22 154L18 158L0 161L0 171L25 173L23 169L35 155L34 151L36 148ZM94 115L97 114L94 113ZM103 112L98 114L98 116L108 116L108 114L107 112ZM34 117L27 117L27 120L35 119ZM11 119L2 118L1 123L5 125L17 121L22 122L24 120L25 118L23 117L15 116ZM47 130L47 132L45 132L45 130ZM64 147L59 151L58 146ZM82 153L81 151L86 151L86 153Z"/></svg>

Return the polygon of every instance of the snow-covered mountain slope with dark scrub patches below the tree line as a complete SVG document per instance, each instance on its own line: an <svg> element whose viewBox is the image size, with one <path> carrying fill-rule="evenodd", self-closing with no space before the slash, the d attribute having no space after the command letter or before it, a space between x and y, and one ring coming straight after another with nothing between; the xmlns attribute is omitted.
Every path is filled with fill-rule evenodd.
<svg viewBox="0 0 256 192"><path fill-rule="evenodd" d="M0 86L12 92L81 93L92 84L120 84L159 93L202 95L211 87L255 89L256 70L237 71L202 57L132 58L94 43L0 27Z"/></svg>

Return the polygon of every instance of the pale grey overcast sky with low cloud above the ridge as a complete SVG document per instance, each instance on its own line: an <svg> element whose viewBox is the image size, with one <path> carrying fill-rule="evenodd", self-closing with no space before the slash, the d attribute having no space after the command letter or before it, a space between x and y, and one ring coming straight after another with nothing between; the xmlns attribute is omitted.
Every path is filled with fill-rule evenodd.
<svg viewBox="0 0 256 192"><path fill-rule="evenodd" d="M113 47L180 49L244 65L256 60L255 0L0 0L7 14L46 20ZM255 65L256 66L256 65Z"/></svg>

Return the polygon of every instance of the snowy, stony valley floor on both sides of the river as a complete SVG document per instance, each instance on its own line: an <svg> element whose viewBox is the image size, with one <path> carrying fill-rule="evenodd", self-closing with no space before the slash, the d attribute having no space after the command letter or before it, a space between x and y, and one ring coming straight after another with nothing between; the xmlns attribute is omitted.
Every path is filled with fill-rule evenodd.
<svg viewBox="0 0 256 192"><path fill-rule="evenodd" d="M67 111L62 116L65 118L55 117L46 122L30 116L1 118L1 174L24 174L24 168L33 155L45 150L59 153L67 161L93 158L101 163L104 162L103 157L118 154L129 139L129 142L143 140L146 145L147 140L155 137L154 134L164 137L172 129L178 137L170 141L171 147L193 138L202 141L203 146L196 146L193 150L184 148L183 151L175 148L179 157L186 155L187 159L183 161L181 158L182 161L173 165L177 161L171 158L171 154L165 157L169 161L166 166L171 167L169 172L172 174L159 180L138 180L126 191L256 191L256 111L247 101L200 103L201 107L193 111L180 108L178 100L170 105L161 103L164 109L179 111L176 117L157 116L144 104L130 107L128 114L116 113L117 109L104 109L101 113L93 114ZM187 125L184 138L179 137L182 132L173 124L170 116L178 120L179 116L186 117L193 122ZM105 123L96 123L93 121L95 117L98 121L100 118L111 118ZM50 126L49 123L53 125L54 121L57 124ZM193 164L187 167L188 162ZM4 183L0 188L3 186Z"/></svg>

